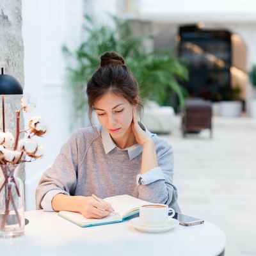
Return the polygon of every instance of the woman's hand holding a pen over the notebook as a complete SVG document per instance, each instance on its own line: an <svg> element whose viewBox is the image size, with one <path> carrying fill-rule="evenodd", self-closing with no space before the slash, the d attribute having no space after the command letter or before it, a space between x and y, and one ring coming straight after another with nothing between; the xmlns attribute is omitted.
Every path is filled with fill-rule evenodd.
<svg viewBox="0 0 256 256"><path fill-rule="evenodd" d="M108 202L101 202L95 200L92 196L79 196L81 197L80 211L85 218L88 219L101 219L114 212L113 207Z"/></svg>

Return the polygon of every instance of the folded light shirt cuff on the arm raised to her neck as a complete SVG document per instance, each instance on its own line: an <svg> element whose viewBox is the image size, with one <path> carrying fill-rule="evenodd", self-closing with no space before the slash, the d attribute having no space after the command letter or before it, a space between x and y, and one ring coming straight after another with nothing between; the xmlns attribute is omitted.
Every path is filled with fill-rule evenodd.
<svg viewBox="0 0 256 256"><path fill-rule="evenodd" d="M165 180L161 167L155 167L146 173L138 174L136 177L137 185L147 185L156 180Z"/></svg>

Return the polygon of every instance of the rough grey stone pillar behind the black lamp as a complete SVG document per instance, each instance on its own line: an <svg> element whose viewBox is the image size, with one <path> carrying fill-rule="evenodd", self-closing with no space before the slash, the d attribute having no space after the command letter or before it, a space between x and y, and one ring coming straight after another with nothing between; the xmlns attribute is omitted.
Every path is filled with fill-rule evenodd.
<svg viewBox="0 0 256 256"><path fill-rule="evenodd" d="M24 47L22 40L21 0L0 1L0 67L4 67L4 74L15 77L24 87ZM15 110L20 109L20 95L5 97L5 127L15 136ZM0 109L1 113L1 109ZM1 116L2 114L0 114ZM0 131L2 131L0 118ZM23 115L20 115L20 127L24 127ZM20 177L25 179L24 168Z"/></svg>

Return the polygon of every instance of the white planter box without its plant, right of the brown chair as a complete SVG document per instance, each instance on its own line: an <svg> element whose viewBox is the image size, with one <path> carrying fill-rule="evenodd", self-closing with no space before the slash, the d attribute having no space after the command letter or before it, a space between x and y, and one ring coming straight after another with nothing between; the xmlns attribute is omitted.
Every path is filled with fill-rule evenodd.
<svg viewBox="0 0 256 256"><path fill-rule="evenodd" d="M220 116L241 116L242 103L240 101L221 101Z"/></svg>

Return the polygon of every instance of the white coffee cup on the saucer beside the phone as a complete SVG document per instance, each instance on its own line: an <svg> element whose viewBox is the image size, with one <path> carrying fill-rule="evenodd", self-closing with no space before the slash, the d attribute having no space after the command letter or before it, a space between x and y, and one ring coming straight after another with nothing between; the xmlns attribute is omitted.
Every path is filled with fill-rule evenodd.
<svg viewBox="0 0 256 256"><path fill-rule="evenodd" d="M172 214L168 215L170 212ZM175 211L166 204L143 205L140 207L140 222L146 227L162 227Z"/></svg>

